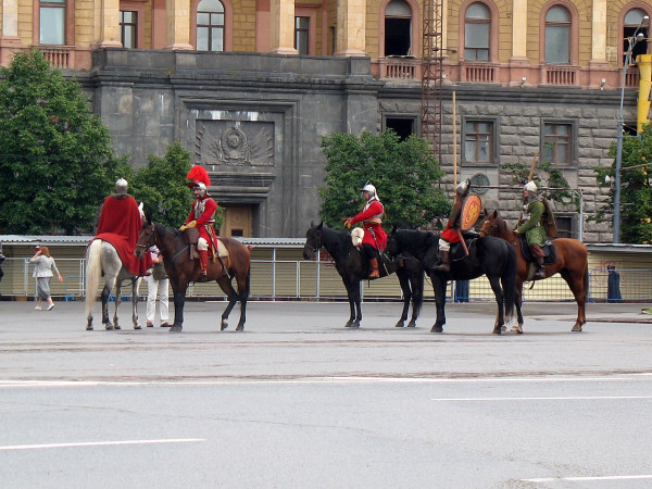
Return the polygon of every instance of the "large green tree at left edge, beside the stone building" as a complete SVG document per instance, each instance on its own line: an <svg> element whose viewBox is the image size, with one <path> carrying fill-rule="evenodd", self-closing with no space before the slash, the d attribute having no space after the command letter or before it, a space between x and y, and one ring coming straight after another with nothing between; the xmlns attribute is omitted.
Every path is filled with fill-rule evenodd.
<svg viewBox="0 0 652 489"><path fill-rule="evenodd" d="M0 68L0 226L15 234L91 229L118 162L76 80L38 50Z"/></svg>

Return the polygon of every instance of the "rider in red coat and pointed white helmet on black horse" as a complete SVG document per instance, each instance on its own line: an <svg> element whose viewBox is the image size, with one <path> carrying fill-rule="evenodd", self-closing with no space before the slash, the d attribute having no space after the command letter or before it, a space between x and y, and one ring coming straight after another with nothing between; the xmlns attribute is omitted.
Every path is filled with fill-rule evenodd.
<svg viewBox="0 0 652 489"><path fill-rule="evenodd" d="M369 278L378 278L380 276L378 271L378 252L385 250L387 246L387 234L381 226L385 208L378 199L376 187L372 184L367 183L362 188L362 196L366 200L362 212L353 217L347 217L344 226L351 229L355 223L362 223L362 228L364 229L362 249L369 261Z"/></svg>

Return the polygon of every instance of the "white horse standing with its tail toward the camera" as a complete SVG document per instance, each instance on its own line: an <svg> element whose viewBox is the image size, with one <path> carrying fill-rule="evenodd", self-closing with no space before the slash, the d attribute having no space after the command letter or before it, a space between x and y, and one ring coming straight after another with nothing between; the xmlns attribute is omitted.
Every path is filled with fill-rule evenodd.
<svg viewBox="0 0 652 489"><path fill-rule="evenodd" d="M139 205L142 215L142 203ZM141 329L138 323L138 286L142 277L131 275L123 266L120 254L113 244L102 239L93 240L86 250L86 329L92 330L92 306L96 301L100 277L104 275L105 283L102 289L102 324L106 330L121 329L117 322L117 308L121 303L121 288L123 280L131 280L131 321L134 329ZM109 318L109 298L115 286L115 314L113 324Z"/></svg>

